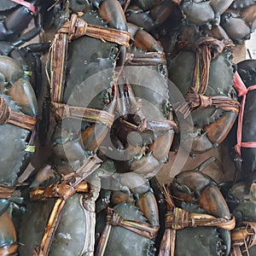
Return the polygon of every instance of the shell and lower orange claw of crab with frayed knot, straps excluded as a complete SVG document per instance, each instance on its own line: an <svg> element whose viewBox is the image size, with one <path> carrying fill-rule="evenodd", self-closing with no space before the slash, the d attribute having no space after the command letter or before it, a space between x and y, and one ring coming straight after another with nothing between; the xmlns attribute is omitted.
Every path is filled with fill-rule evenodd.
<svg viewBox="0 0 256 256"><path fill-rule="evenodd" d="M236 99L236 91L232 87L234 73L231 58L230 52L224 50L216 59L211 61L205 96L230 96ZM187 94L192 84L194 65L195 53L189 50L180 50L169 62L169 79L177 86L183 96ZM175 107L173 109L176 111ZM236 113L224 111L221 108L197 109L191 113L194 127L186 122L186 119L180 120L184 131L190 131L183 138L181 146L186 148L189 144L187 141L192 138L192 153L203 153L217 147L228 135L235 123L236 116Z"/></svg>

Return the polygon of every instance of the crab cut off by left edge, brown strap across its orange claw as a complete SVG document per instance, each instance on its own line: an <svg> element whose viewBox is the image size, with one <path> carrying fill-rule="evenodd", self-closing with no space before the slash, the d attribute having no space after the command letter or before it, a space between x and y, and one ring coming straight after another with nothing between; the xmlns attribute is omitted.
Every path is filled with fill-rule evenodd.
<svg viewBox="0 0 256 256"><path fill-rule="evenodd" d="M28 140L36 123L38 105L29 76L8 56L0 56L1 146L9 148L1 157L0 182L15 185L25 160ZM12 132L10 132L12 131Z"/></svg>

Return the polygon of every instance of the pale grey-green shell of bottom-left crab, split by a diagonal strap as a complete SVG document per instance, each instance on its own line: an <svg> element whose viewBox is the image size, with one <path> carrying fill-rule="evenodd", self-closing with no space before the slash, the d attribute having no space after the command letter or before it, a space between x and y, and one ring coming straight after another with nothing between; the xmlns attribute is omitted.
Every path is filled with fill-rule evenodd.
<svg viewBox="0 0 256 256"><path fill-rule="evenodd" d="M49 255L81 255L93 251L94 243L90 244L90 238L94 237L95 212L90 204L85 208L85 197L73 195L62 209ZM55 199L48 199L27 204L20 227L20 255L32 255L40 245L54 202Z"/></svg>

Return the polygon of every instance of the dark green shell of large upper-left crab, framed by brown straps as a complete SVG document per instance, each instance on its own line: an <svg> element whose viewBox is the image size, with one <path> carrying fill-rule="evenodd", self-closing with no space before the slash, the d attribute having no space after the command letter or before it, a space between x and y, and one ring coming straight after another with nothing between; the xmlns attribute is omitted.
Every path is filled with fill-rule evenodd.
<svg viewBox="0 0 256 256"><path fill-rule="evenodd" d="M88 12L80 18L92 25L107 26L95 12ZM84 36L73 40L67 50L63 102L77 107L105 108L111 100L108 97L113 85L117 53L117 44L97 38ZM68 120L68 123L71 121Z"/></svg>

